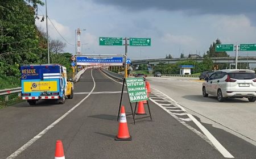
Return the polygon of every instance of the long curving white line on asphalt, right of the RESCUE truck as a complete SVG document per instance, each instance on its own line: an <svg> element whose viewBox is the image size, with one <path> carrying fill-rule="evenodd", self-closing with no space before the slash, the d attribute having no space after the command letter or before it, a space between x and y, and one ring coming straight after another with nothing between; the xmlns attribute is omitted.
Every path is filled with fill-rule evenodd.
<svg viewBox="0 0 256 159"><path fill-rule="evenodd" d="M90 72L90 74L92 75L92 70ZM93 78L93 76L92 76ZM36 135L35 137L33 137L30 141L28 141L26 144L24 144L22 147L20 147L18 150L16 150L13 154L11 154L9 157L7 157L6 159L13 159L15 157L17 157L20 153L22 153L24 150L26 150L28 147L30 147L30 145L32 145L33 143L35 143L36 140L40 139L40 137L42 137L44 134L46 134L51 128L53 128L57 123L59 123L62 119L64 119L68 114L70 114L73 110L75 110L76 107L78 107L82 102L85 101L85 99L87 99L90 94L92 94L93 90L95 89L96 83L94 81L93 78L93 89L90 91L90 93L84 98L82 99L82 101L80 101L79 103L76 104L76 106L72 107L69 111L67 111L64 115L62 115L59 119L55 120L55 122L53 122L51 125L49 125L47 128L45 128L43 131L41 131L40 133L38 133L38 135Z"/></svg>

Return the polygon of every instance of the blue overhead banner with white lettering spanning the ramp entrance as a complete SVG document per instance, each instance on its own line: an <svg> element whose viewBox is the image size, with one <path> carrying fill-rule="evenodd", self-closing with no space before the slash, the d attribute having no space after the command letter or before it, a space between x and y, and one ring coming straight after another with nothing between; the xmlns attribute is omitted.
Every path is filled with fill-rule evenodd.
<svg viewBox="0 0 256 159"><path fill-rule="evenodd" d="M86 65L86 66L122 66L123 57L110 57L110 58L76 57L76 64Z"/></svg>

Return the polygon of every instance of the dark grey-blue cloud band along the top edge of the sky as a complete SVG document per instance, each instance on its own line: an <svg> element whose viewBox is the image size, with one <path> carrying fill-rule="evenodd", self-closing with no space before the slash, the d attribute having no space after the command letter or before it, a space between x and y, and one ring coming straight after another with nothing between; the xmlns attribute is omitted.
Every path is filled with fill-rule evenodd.
<svg viewBox="0 0 256 159"><path fill-rule="evenodd" d="M256 12L256 0L94 0L131 11L157 9L193 14L249 14Z"/></svg>

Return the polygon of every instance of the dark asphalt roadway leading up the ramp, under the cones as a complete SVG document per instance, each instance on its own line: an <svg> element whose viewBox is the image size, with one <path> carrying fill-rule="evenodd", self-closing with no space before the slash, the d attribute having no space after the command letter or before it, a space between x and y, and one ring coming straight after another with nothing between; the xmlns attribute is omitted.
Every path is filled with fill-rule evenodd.
<svg viewBox="0 0 256 159"><path fill-rule="evenodd" d="M65 158L224 158L211 144L151 101L152 122L146 118L133 124L131 116L127 116L133 140L114 141L121 89L120 83L110 80L100 70L86 70L75 85L75 97L63 105L40 101L36 106L29 106L22 102L0 110L0 158L14 152L17 155L12 158L53 158L56 140L63 141ZM122 104L129 113L127 94ZM74 106L65 118L49 127ZM234 157L256 156L254 145L210 124L204 125L218 139L231 136L232 141L223 145ZM31 139L33 142L26 144ZM22 147L24 144L26 147Z"/></svg>

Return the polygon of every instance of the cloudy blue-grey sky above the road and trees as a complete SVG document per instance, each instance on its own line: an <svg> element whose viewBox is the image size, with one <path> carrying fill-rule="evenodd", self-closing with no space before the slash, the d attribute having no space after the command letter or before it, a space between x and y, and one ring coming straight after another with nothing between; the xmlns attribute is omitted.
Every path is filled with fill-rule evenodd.
<svg viewBox="0 0 256 159"><path fill-rule="evenodd" d="M125 46L99 45L99 37L148 37L150 47L128 46L127 56L133 60L181 53L202 56L216 39L222 44L256 44L255 6L255 0L51 0L47 1L48 31L72 54L75 30L80 28L82 54L125 54ZM46 6L39 6L38 14L45 16ZM36 20L36 25L46 31L46 20Z"/></svg>

